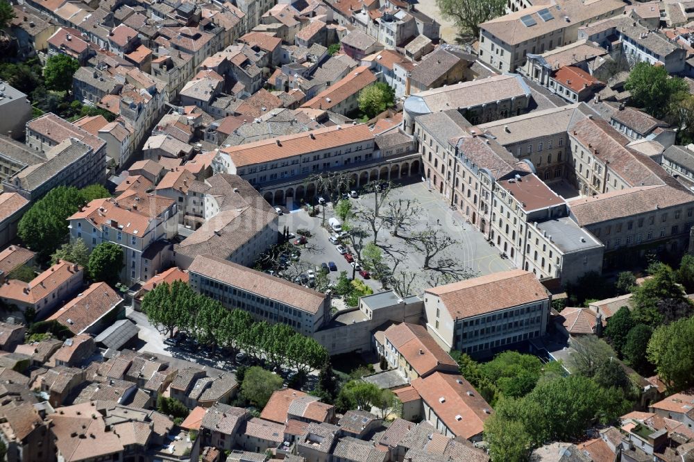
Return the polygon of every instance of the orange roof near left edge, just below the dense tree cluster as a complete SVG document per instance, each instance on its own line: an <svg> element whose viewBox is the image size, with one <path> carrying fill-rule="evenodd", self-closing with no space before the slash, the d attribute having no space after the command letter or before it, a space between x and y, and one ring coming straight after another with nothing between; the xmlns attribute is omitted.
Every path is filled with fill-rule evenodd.
<svg viewBox="0 0 694 462"><path fill-rule="evenodd" d="M70 262L60 261L46 271L37 275L30 282L9 280L0 286L0 298L19 300L35 304L57 291L76 274L82 272L82 267Z"/></svg>

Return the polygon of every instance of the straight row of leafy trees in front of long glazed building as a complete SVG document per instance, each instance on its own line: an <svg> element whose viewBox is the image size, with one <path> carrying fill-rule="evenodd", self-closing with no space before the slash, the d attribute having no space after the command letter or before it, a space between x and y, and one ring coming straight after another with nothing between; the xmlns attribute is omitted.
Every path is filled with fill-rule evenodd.
<svg viewBox="0 0 694 462"><path fill-rule="evenodd" d="M248 311L226 309L185 282L158 284L142 299L142 311L166 336L186 332L205 345L243 350L271 368L288 365L306 374L328 361L322 345L289 325L257 321Z"/></svg>

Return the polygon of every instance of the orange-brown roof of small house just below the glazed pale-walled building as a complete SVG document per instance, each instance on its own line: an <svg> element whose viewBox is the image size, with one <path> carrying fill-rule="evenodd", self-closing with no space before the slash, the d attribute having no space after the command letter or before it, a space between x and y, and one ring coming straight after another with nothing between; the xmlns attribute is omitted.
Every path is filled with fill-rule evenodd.
<svg viewBox="0 0 694 462"><path fill-rule="evenodd" d="M427 375L440 366L449 366L452 370L458 368L450 354L443 351L423 325L391 325L385 331L385 337L418 375Z"/></svg>

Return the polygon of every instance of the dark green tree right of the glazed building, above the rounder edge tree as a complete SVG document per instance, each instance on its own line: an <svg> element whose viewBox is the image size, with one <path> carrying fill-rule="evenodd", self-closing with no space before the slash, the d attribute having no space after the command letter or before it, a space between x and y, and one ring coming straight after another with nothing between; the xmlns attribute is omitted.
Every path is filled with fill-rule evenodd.
<svg viewBox="0 0 694 462"><path fill-rule="evenodd" d="M648 268L652 277L634 289L632 318L637 323L656 327L672 320L672 307L682 305L686 314L687 307L691 312L691 301L687 298L682 286L677 284L675 272L670 266L656 263ZM677 309L674 316L682 316L682 309Z"/></svg>

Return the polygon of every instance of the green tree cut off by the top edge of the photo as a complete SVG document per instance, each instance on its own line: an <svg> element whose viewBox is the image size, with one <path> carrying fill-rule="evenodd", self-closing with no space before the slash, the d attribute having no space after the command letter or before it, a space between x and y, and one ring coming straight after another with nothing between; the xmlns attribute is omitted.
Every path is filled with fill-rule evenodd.
<svg viewBox="0 0 694 462"><path fill-rule="evenodd" d="M455 23L461 34L477 40L480 24L504 14L502 0L436 0L441 16Z"/></svg>

